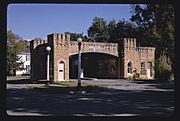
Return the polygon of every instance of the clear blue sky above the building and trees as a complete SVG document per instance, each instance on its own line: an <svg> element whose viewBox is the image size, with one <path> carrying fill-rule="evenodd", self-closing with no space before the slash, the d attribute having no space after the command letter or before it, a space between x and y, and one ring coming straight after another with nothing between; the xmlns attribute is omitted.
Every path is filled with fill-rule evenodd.
<svg viewBox="0 0 180 121"><path fill-rule="evenodd" d="M129 20L129 4L10 4L7 29L23 39L47 39L51 33L75 32L87 35L95 16Z"/></svg>

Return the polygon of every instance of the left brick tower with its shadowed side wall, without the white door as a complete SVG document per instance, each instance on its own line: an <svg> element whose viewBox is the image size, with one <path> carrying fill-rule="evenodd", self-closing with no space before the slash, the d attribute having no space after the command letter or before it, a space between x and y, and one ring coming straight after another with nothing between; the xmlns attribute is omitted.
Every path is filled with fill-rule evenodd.
<svg viewBox="0 0 180 121"><path fill-rule="evenodd" d="M58 80L57 71L59 63L64 65L64 76L62 80L69 80L69 34L50 34L48 40L32 40L30 42L31 50L31 79L45 80L47 75L47 51L46 47L50 46L50 81ZM66 50L66 51L64 51Z"/></svg>

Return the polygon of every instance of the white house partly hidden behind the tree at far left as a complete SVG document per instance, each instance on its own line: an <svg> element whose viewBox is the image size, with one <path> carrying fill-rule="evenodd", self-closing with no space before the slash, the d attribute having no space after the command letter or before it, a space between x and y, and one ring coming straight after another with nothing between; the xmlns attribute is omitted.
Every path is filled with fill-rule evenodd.
<svg viewBox="0 0 180 121"><path fill-rule="evenodd" d="M30 74L30 46L28 45L27 48L20 54L17 55L20 57L20 61L23 62L22 67L24 68L23 70L16 70L16 75L28 75Z"/></svg>

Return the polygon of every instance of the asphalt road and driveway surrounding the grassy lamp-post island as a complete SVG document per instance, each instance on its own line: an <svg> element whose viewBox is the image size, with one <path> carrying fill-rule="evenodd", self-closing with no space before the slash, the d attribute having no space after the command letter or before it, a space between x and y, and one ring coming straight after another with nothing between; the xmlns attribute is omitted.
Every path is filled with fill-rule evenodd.
<svg viewBox="0 0 180 121"><path fill-rule="evenodd" d="M76 81L76 80L74 80ZM7 81L7 114L12 116L171 116L174 84L122 79L82 80L106 87L85 93L47 93L29 79ZM55 85L50 85L55 86ZM62 89L65 87L59 87Z"/></svg>

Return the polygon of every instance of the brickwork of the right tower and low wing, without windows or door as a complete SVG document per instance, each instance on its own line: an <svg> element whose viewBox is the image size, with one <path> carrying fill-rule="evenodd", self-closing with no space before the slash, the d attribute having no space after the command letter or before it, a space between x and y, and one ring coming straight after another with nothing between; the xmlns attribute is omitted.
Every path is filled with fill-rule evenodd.
<svg viewBox="0 0 180 121"><path fill-rule="evenodd" d="M137 73L141 74L141 62L145 62L145 69L147 69L147 63L151 62L154 65L155 60L155 48L153 47L137 47L136 39L124 38L124 77L128 77L128 63L132 62L133 70L137 70ZM142 78L146 78L146 75L140 75ZM154 78L154 69L152 68L152 79Z"/></svg>

